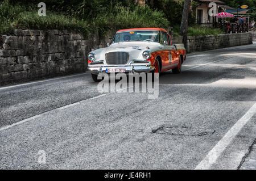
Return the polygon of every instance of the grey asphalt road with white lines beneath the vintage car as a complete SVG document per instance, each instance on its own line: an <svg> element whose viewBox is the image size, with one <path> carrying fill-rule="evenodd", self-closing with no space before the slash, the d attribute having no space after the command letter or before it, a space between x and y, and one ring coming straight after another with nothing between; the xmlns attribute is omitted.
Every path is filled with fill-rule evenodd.
<svg viewBox="0 0 256 181"><path fill-rule="evenodd" d="M189 54L157 99L97 85L0 87L0 169L239 169L254 148L256 44Z"/></svg>

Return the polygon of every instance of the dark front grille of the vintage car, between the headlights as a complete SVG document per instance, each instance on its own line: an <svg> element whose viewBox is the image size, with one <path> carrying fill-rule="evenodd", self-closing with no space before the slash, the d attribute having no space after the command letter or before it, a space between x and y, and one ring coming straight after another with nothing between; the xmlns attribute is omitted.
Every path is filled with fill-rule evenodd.
<svg viewBox="0 0 256 181"><path fill-rule="evenodd" d="M129 59L128 52L110 52L105 54L106 63L109 65L127 64Z"/></svg>

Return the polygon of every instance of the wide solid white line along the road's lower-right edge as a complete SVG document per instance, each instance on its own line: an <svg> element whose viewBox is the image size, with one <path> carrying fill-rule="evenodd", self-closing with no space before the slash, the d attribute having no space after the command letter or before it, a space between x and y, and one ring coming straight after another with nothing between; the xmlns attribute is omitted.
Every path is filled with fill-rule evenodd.
<svg viewBox="0 0 256 181"><path fill-rule="evenodd" d="M212 150L206 155L206 157L196 166L195 170L207 170L217 161L218 157L227 148L227 146L232 142L233 138L241 131L241 129L246 125L246 123L254 116L256 113L256 103L249 111L233 125L231 129L225 134L223 138L214 146Z"/></svg>

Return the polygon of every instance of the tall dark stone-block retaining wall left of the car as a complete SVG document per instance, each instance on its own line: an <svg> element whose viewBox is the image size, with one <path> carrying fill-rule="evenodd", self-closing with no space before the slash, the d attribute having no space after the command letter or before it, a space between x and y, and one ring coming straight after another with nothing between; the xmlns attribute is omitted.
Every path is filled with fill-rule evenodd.
<svg viewBox="0 0 256 181"><path fill-rule="evenodd" d="M88 41L79 33L16 30L1 40L0 85L86 70Z"/></svg>

